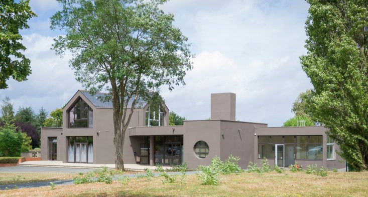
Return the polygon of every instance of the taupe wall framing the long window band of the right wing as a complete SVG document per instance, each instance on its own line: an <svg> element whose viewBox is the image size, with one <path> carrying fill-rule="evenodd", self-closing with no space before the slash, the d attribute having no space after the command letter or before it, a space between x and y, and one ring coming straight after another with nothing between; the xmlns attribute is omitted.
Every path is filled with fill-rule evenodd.
<svg viewBox="0 0 368 197"><path fill-rule="evenodd" d="M258 158L258 136L262 135L322 135L322 160L307 160L307 159L295 159L295 162L306 167L310 164L317 164L317 167L328 168L343 168L345 163L343 159L337 155L336 150L339 150L339 146L335 143L335 155L336 159L327 160L327 128L323 126L304 126L304 127L257 127L254 135L254 161L261 163ZM271 165L275 164L275 159L268 159ZM343 161L343 162L341 162ZM287 166L285 166L287 167Z"/></svg>

